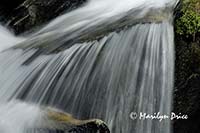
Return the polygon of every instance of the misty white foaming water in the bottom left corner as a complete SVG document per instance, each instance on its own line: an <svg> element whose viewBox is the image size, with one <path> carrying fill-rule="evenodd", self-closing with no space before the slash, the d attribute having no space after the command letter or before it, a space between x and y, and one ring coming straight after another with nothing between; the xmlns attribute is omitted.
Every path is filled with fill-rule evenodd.
<svg viewBox="0 0 200 133"><path fill-rule="evenodd" d="M41 124L39 108L22 102L1 103L0 114L1 133L22 133L26 127L35 127L37 122Z"/></svg>

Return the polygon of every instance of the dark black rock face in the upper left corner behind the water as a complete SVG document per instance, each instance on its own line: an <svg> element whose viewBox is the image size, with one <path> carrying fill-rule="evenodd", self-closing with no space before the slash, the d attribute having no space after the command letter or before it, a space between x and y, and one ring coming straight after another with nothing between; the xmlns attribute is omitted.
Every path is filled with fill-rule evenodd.
<svg viewBox="0 0 200 133"><path fill-rule="evenodd" d="M23 2L23 3L22 3ZM14 5L2 4L4 23L16 34L41 26L64 12L69 12L86 0L20 0Z"/></svg>

